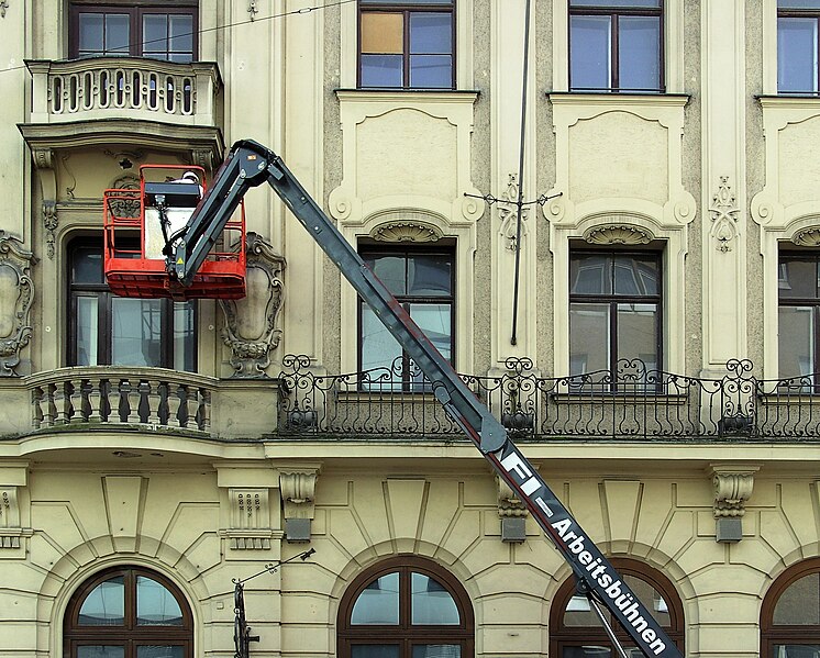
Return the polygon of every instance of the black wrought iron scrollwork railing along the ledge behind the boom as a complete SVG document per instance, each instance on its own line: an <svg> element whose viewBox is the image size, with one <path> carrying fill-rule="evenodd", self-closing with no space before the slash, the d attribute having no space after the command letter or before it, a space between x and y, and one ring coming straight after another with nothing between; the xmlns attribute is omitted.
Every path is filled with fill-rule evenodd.
<svg viewBox="0 0 820 658"><path fill-rule="evenodd" d="M461 375L519 439L767 440L820 438L820 377L762 380L747 360L719 379L619 361L616 371L541 377L529 358L497 376ZM392 367L320 375L284 359L278 433L335 437L458 437L418 371ZM816 384L817 381L817 384Z"/></svg>

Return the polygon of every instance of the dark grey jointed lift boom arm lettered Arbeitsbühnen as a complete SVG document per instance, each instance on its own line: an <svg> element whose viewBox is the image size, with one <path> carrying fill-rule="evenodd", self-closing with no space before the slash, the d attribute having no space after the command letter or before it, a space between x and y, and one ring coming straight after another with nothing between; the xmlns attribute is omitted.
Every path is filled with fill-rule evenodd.
<svg viewBox="0 0 820 658"><path fill-rule="evenodd" d="M589 599L591 610L605 623L620 655L625 656L625 651L606 623L599 604L609 610L644 656L680 658L680 651L661 624L508 437L503 425L461 380L274 152L250 140L236 142L231 147L186 228L171 236L173 242L166 247L168 275L184 286L189 285L245 192L263 182L270 185L339 267L424 372L446 413L529 509L572 567L578 592Z"/></svg>

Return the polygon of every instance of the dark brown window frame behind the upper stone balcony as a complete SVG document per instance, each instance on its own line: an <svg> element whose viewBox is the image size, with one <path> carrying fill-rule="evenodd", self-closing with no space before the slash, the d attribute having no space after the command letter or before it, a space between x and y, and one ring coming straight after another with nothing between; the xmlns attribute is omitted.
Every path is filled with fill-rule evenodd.
<svg viewBox="0 0 820 658"><path fill-rule="evenodd" d="M187 14L192 18L191 62L199 59L199 0L175 0L174 7L163 0L71 0L68 22L68 57L78 59L79 15L81 13L121 13L129 15L129 53L122 55L86 55L86 57L145 57L160 62L171 62L155 54L143 53L142 16L149 13Z"/></svg>

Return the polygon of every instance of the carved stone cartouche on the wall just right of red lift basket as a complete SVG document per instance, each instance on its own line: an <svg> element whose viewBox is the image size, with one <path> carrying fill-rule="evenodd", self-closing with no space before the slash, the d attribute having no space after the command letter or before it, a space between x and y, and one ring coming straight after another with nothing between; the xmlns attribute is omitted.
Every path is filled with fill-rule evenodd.
<svg viewBox="0 0 820 658"><path fill-rule="evenodd" d="M264 378L270 353L281 339L276 320L285 290L285 258L256 233L247 234L246 253L246 297L220 300L226 323L222 341L231 348L233 377Z"/></svg>

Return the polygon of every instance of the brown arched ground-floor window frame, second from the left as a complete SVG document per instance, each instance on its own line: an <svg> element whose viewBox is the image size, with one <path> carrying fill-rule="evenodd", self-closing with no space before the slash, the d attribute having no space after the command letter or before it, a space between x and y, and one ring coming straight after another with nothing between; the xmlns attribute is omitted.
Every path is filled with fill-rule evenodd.
<svg viewBox="0 0 820 658"><path fill-rule="evenodd" d="M399 624L351 624L353 606L364 589L377 578L399 572ZM443 585L458 609L459 624L412 624L410 596L411 573L422 573ZM412 647L419 644L451 644L462 647L461 658L475 655L475 617L473 604L455 576L426 558L400 555L387 558L359 573L347 587L339 606L336 622L339 658L351 658L354 644L399 645L399 658L410 658Z"/></svg>

